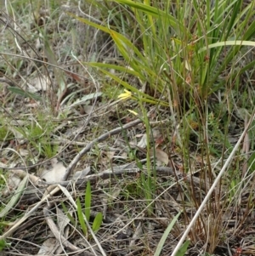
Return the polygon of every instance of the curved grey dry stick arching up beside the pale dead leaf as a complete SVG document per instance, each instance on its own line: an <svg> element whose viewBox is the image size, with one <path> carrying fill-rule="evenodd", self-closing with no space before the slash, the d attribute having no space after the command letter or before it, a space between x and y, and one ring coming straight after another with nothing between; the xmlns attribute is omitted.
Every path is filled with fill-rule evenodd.
<svg viewBox="0 0 255 256"><path fill-rule="evenodd" d="M97 142L100 142L100 141L102 141L104 139L107 139L107 138L111 137L114 134L119 134L119 133L122 132L122 130L125 130L125 129L128 129L128 128L132 128L132 127L138 125L140 122L142 122L141 119L136 119L133 122L128 122L127 124L123 125L122 127L115 128L115 129L111 130L110 132L102 134L102 135L99 136L99 138L94 139L93 141L88 143L88 145L85 148L83 148L82 151L80 151L77 154L77 156L71 161L69 166L66 168L65 175L62 178L62 180L65 181L66 179L68 179L69 175L71 174L71 170L77 165L77 162L80 161L82 156L84 156L88 151L90 151L90 149L94 146L94 144L96 144Z"/></svg>

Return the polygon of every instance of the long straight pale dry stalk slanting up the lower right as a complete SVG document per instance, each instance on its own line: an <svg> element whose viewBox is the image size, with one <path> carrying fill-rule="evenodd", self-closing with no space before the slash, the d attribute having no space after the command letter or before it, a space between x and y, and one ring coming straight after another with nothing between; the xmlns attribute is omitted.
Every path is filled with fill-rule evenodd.
<svg viewBox="0 0 255 256"><path fill-rule="evenodd" d="M221 169L221 171L219 172L217 178L214 180L213 184L212 184L212 187L210 188L210 190L208 191L207 193L207 196L204 198L203 202L201 202L201 206L200 208L197 209L197 212L195 213L193 219L191 219L190 221L190 225L187 227L187 229L184 231L184 235L181 237L181 239L179 240L177 246L174 248L173 250L173 253L171 254L171 256L175 256L176 253L178 253L178 249L182 246L186 236L189 235L189 232L192 228L192 226L195 224L195 221L196 219L199 217L201 211L203 210L203 208L205 207L209 197L211 196L212 194L212 191L214 191L216 185L218 184L219 180L221 179L221 176L224 174L226 168L228 168L229 166L229 163L232 161L233 157L235 156L235 152L238 150L240 144L241 144L241 141L242 139L244 139L244 137L246 136L246 133L248 131L248 128L250 127L253 119L255 117L255 109L253 110L253 113L252 113L252 117L250 118L249 122L247 123L246 125L246 128L244 129L244 131L242 132L241 134L241 137L238 139L238 141L236 142L235 144L235 147L233 149L233 151L231 152L231 154L229 155L228 159L226 160L226 162L224 163L224 166L223 168Z"/></svg>

